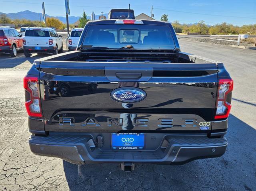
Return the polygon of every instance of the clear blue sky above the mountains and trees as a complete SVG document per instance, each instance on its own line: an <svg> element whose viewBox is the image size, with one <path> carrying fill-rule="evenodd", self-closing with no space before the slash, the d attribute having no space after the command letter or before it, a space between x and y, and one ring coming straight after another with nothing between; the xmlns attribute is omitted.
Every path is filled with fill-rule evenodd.
<svg viewBox="0 0 256 191"><path fill-rule="evenodd" d="M45 3L46 14L65 16L64 0L0 0L0 12L11 13L30 10L42 12ZM156 20L168 14L169 21L195 23L204 20L206 24L228 22L242 26L256 24L256 0L69 0L70 15L81 16L85 10L88 15L94 11L108 13L111 8L131 8L135 16L145 13L150 16L151 6Z"/></svg>

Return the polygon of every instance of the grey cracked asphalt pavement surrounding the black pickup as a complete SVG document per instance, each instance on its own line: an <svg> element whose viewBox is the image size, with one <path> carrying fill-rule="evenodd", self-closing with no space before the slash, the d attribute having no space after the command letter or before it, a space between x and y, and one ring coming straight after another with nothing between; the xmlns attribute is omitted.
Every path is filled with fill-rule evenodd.
<svg viewBox="0 0 256 191"><path fill-rule="evenodd" d="M0 55L0 190L256 190L256 51L180 39L182 51L224 62L234 79L228 148L220 158L181 166L72 165L35 156L24 108L22 78L34 59Z"/></svg>

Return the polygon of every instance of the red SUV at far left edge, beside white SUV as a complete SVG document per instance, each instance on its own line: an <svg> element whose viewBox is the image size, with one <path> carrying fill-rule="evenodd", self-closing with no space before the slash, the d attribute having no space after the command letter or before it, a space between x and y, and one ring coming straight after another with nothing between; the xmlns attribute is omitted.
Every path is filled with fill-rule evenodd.
<svg viewBox="0 0 256 191"><path fill-rule="evenodd" d="M10 53L11 57L16 57L19 50L23 50L22 35L14 28L0 27L0 53Z"/></svg>

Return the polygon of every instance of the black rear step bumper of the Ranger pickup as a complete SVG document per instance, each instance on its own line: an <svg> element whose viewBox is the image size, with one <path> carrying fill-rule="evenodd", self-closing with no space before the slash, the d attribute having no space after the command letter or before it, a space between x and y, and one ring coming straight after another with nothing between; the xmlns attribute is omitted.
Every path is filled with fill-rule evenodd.
<svg viewBox="0 0 256 191"><path fill-rule="evenodd" d="M227 147L225 137L208 138L193 135L165 135L155 150L139 151L111 150L110 140L107 139L104 140L105 146L98 148L94 140L93 136L88 134L52 134L47 137L31 136L29 146L36 155L57 157L74 164L147 162L175 165L194 159L220 157Z"/></svg>

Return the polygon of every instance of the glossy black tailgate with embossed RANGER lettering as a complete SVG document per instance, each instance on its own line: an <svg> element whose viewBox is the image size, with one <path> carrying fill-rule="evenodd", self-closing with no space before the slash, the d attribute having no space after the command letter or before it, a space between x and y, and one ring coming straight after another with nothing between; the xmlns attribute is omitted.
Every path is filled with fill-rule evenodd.
<svg viewBox="0 0 256 191"><path fill-rule="evenodd" d="M211 129L218 69L215 63L55 62L40 64L46 131L119 132ZM58 95L66 87L68 96ZM118 102L117 88L140 89L138 102ZM207 128L208 127L208 128Z"/></svg>

